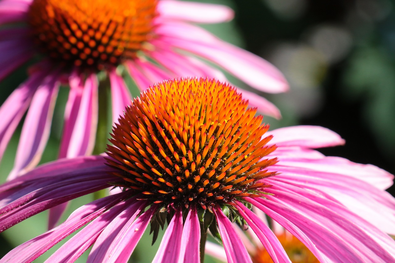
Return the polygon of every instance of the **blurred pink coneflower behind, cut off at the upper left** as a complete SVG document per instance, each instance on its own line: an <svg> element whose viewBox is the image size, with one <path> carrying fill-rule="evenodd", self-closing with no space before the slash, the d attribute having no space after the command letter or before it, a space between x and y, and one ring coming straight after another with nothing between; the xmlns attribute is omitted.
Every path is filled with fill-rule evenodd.
<svg viewBox="0 0 395 263"><path fill-rule="evenodd" d="M61 83L70 93L59 158L92 153L99 72L111 83L114 119L131 100L122 74L141 90L179 75L225 80L200 58L256 90L285 91L287 83L274 66L190 24L232 17L226 6L175 0L0 0L0 81L32 58L40 60L0 108L1 158L29 107L9 179L40 161ZM279 116L264 98L247 91L244 96L264 113Z"/></svg>

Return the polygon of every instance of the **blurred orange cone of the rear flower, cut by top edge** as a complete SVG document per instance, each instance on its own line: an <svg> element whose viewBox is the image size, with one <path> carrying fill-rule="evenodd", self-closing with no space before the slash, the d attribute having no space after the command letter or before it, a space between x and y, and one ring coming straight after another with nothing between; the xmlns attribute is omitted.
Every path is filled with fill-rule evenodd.
<svg viewBox="0 0 395 263"><path fill-rule="evenodd" d="M42 52L103 69L133 58L150 38L157 0L33 0L28 21Z"/></svg>

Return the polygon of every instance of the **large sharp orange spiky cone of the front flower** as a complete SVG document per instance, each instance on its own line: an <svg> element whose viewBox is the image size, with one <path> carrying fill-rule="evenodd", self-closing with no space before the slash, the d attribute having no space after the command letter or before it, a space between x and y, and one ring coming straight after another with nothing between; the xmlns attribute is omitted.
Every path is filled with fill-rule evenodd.
<svg viewBox="0 0 395 263"><path fill-rule="evenodd" d="M210 79L165 81L133 101L113 129L108 163L121 186L175 207L233 205L274 175L269 129L235 88Z"/></svg>

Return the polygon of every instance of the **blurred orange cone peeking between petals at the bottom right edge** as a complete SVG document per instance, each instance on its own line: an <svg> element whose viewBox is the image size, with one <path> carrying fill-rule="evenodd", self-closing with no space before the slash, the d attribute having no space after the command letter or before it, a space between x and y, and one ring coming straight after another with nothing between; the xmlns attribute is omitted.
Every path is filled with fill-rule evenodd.
<svg viewBox="0 0 395 263"><path fill-rule="evenodd" d="M318 259L310 250L296 237L291 234L276 235L288 257L293 263L319 263ZM254 263L273 262L265 248L258 248L252 257Z"/></svg>

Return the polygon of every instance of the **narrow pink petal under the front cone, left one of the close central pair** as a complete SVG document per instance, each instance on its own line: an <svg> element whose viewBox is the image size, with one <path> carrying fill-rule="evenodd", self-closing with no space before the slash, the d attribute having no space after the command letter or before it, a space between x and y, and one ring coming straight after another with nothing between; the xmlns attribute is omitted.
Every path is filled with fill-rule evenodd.
<svg viewBox="0 0 395 263"><path fill-rule="evenodd" d="M167 226L152 263L177 262L181 253L182 232L182 212L179 209L175 212L170 224Z"/></svg>

